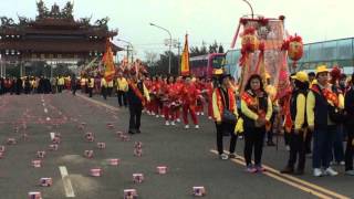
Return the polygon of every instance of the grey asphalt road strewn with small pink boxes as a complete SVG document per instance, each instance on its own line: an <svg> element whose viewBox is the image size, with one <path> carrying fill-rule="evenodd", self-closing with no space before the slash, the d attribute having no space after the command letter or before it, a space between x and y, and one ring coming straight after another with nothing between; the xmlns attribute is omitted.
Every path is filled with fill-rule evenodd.
<svg viewBox="0 0 354 199"><path fill-rule="evenodd" d="M122 142L116 132L127 130L127 109L117 108L115 97L93 100L69 93L0 96L0 145L6 147L0 159L1 199L27 198L29 191L40 191L44 199L113 199L123 198L124 189L129 188L143 199L185 199L194 198L194 186L204 186L204 198L212 199L354 198L353 177L344 176L341 167L336 167L341 171L337 177L314 178L308 159L304 176L280 175L278 170L288 159L282 142L279 150L264 148L263 164L269 166L264 174L247 174L241 159L218 159L212 150L215 126L206 116L199 117L200 129L186 130L180 124L164 126L163 118L145 114L142 134ZM88 132L95 136L93 143L84 138ZM56 151L49 150L50 133L61 134ZM8 138L15 138L17 144L8 145ZM98 149L98 142L104 142L106 148ZM134 156L135 142L143 143L142 157ZM229 142L225 143L228 148ZM242 146L243 140L238 140L239 155ZM91 159L83 156L88 149L94 150ZM42 167L33 168L31 160L39 159L38 150L46 155ZM119 158L121 164L111 166L110 158ZM160 165L168 167L166 175L156 172ZM67 177L63 178L59 167L66 168ZM102 176L91 177L90 169L96 167L102 168ZM137 172L144 174L143 184L133 182L133 174ZM41 187L43 177L51 177L53 185Z"/></svg>

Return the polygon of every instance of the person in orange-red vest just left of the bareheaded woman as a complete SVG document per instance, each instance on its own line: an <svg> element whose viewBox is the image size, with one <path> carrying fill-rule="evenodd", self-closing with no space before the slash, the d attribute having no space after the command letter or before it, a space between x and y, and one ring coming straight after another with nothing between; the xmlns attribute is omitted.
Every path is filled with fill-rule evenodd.
<svg viewBox="0 0 354 199"><path fill-rule="evenodd" d="M235 148L237 136L233 133L237 123L238 112L236 106L236 97L230 86L230 75L223 74L219 77L219 86L212 92L212 111L217 128L217 147L220 159L236 158ZM225 117L227 113L233 114L232 119ZM222 137L230 135L230 154L223 153Z"/></svg>

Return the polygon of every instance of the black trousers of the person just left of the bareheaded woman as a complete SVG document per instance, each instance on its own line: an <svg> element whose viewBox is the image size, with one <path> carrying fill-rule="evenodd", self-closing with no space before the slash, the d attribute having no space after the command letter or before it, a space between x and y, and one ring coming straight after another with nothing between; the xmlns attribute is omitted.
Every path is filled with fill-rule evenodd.
<svg viewBox="0 0 354 199"><path fill-rule="evenodd" d="M225 134L231 135L230 138L230 148L229 151L230 154L235 153L236 144L237 144L237 135L235 135L235 126L236 124L217 124L217 147L218 147L218 153L219 155L223 153L223 140L222 137Z"/></svg>

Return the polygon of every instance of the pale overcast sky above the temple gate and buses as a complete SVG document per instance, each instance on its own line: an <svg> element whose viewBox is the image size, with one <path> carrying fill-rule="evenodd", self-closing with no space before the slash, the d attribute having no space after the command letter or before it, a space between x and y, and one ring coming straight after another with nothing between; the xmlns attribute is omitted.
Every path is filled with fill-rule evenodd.
<svg viewBox="0 0 354 199"><path fill-rule="evenodd" d="M54 2L61 8L67 2L43 1L49 9ZM304 43L354 36L353 0L249 1L256 14L285 15L288 32L298 33ZM32 19L37 15L35 0L0 0L0 15L13 19L17 14ZM181 45L188 33L189 46L217 41L228 50L239 18L244 14L250 14L250 9L242 0L74 0L75 19L92 15L93 23L108 17L110 29L118 29L117 38L129 41L135 56L142 60L145 60L146 52L159 54L168 51L164 44L168 33L149 25L150 22L169 30L173 39L180 41ZM177 49L173 51L177 53ZM121 59L124 54L119 53Z"/></svg>

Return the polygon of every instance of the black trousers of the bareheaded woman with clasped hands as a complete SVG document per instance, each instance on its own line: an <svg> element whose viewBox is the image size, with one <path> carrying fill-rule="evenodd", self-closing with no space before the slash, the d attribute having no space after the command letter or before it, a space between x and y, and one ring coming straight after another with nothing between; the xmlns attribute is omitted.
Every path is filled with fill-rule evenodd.
<svg viewBox="0 0 354 199"><path fill-rule="evenodd" d="M244 159L246 165L252 164L252 150L254 149L254 164L261 166L266 127L244 128Z"/></svg>

